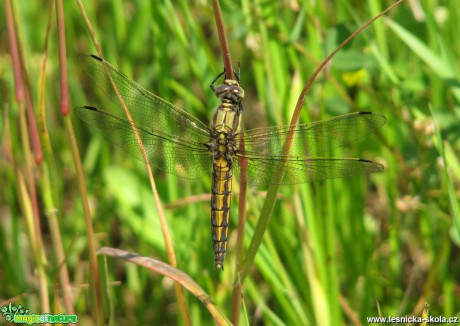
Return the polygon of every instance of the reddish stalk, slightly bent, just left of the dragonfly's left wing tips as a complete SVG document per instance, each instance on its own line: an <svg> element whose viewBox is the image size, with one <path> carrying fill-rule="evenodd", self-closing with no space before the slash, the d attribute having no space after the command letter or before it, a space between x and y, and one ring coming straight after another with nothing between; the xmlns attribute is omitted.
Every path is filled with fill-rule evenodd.
<svg viewBox="0 0 460 326"><path fill-rule="evenodd" d="M56 19L57 30L59 38L59 67L60 67L60 83L61 83L61 100L60 112L64 117L65 129L67 137L72 147L73 161L77 173L77 183L80 191L81 201L83 205L83 212L85 215L86 234L88 238L89 250L89 264L91 274L89 278L92 280L94 286L90 295L93 297L95 307L93 307L93 318L96 325L103 325L105 322L104 310L102 305L102 290L99 279L99 271L96 256L96 243L94 237L93 224L91 220L91 213L89 210L88 196L86 193L86 185L83 175L83 168L81 165L80 153L78 152L77 142L75 140L75 133L69 117L69 100L68 100L68 79L67 79L67 60L66 60L66 39L65 39L65 20L64 8L61 0L56 0Z"/></svg>

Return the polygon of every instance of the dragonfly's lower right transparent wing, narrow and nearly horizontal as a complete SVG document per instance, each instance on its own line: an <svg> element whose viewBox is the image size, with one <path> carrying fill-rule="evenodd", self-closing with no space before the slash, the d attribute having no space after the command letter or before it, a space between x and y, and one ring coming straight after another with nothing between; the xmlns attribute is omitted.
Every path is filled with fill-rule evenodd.
<svg viewBox="0 0 460 326"><path fill-rule="evenodd" d="M345 178L383 170L380 163L354 158L267 157L250 155L247 177L251 185L301 184L326 179ZM285 164L285 169L282 166ZM238 164L234 164L237 174ZM284 171L284 172L283 172Z"/></svg>

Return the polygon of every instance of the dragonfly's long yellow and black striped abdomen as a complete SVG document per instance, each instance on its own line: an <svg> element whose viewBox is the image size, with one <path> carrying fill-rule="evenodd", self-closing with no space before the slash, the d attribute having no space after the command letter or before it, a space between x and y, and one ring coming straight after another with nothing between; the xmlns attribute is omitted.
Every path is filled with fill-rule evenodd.
<svg viewBox="0 0 460 326"><path fill-rule="evenodd" d="M232 161L223 157L214 161L211 194L212 242L214 267L223 269L227 251L228 222L232 200Z"/></svg>

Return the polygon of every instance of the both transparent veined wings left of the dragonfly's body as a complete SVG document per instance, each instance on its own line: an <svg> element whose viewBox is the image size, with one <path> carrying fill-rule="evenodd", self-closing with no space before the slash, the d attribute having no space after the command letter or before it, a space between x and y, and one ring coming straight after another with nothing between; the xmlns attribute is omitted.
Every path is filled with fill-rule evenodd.
<svg viewBox="0 0 460 326"><path fill-rule="evenodd" d="M121 106L107 72L131 113L148 162L165 172L187 179L209 174L209 128L200 120L146 91L109 63L93 55L80 55L80 64L107 97ZM107 67L105 69L104 65ZM110 142L144 161L129 121L91 106L75 109L76 115ZM122 117L123 116L123 117Z"/></svg>

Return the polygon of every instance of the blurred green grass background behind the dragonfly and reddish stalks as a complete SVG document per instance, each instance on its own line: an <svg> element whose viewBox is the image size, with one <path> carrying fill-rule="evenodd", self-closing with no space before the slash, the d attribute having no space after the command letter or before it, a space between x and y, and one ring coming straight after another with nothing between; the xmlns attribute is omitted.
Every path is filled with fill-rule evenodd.
<svg viewBox="0 0 460 326"><path fill-rule="evenodd" d="M48 2L14 2L37 103ZM245 127L288 124L317 64L391 3L222 1L232 59L240 64L246 92ZM96 51L76 3L65 1L64 6L71 107L117 110L79 67L78 53ZM218 104L209 84L223 69L209 1L86 1L85 6L108 62L146 89L209 122ZM4 17L3 6L0 17ZM430 315L460 315L460 249L454 227L460 195L458 22L460 7L454 0L403 3L356 37L320 74L301 122L357 110L385 114L388 122L378 134L332 153L381 162L385 171L281 188L255 266L244 283L246 318L251 324L366 324L366 316L420 315L425 302L430 304ZM75 285L75 310L85 320L90 316L85 287L87 239L71 149L58 109L54 25L50 37L46 122L55 166L51 184L64 248L71 248L67 263ZM2 149L11 137L21 169L19 113L3 19L0 83ZM5 131L6 107L11 135ZM436 138L434 121L443 142ZM73 122L99 244L166 261L143 163L75 117ZM227 261L221 272L213 269L210 177L188 182L156 172L178 268L229 315L237 181ZM22 303L41 313L15 174L3 154L0 185L0 301ZM247 241L265 190L248 191ZM55 261L47 215L41 209L52 284L60 262ZM182 323L171 280L123 261L108 259L108 264L109 280L114 282L110 287L113 325ZM17 296L21 297L12 299ZM212 324L202 303L189 293L186 297L194 324Z"/></svg>

